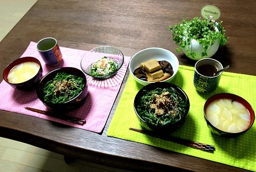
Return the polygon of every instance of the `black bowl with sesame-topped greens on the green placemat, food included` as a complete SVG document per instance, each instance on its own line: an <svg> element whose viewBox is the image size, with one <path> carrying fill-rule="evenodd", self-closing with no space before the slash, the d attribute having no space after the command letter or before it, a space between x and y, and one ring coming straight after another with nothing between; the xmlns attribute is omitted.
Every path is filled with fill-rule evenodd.
<svg viewBox="0 0 256 172"><path fill-rule="evenodd" d="M134 99L138 120L147 130L177 130L185 122L189 107L187 94L180 87L168 82L148 84Z"/></svg>

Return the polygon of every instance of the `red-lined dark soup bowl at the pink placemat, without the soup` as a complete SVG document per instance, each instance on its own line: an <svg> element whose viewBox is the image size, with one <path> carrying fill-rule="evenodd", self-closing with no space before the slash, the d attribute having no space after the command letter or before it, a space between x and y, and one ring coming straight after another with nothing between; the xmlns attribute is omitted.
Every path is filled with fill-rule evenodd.
<svg viewBox="0 0 256 172"><path fill-rule="evenodd" d="M10 70L12 68L14 68L14 66L17 66L18 64L21 64L24 62L36 62L37 64L39 64L40 69L38 70L37 74L30 80L27 80L22 83L12 84L12 83L8 82L7 77L8 77ZM39 62L39 60L37 60L34 57L22 57L17 60L14 60L10 64L8 64L8 66L4 70L3 78L4 78L5 82L7 82L10 86L12 86L12 88L15 88L18 90L34 90L36 88L36 86L38 85L39 81L42 79L42 77L43 77L42 74L43 74L43 69L42 69L42 66L41 66L41 63Z"/></svg>

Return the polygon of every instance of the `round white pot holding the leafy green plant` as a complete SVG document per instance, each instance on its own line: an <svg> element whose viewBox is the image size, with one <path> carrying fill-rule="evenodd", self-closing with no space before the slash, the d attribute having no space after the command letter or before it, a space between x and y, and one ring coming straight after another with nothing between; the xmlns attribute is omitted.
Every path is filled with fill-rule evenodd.
<svg viewBox="0 0 256 172"><path fill-rule="evenodd" d="M215 27L216 32L219 32L218 28ZM220 46L220 42L217 39L214 44L212 46L210 46L208 48L208 50L206 50L206 53L208 56L204 56L202 57L202 53L204 52L203 46L200 45L197 40L192 39L191 40L191 44L186 46L185 48L182 49L182 51L186 54L186 56L188 58L191 58L192 60L200 60L202 58L211 58L218 50ZM194 58L192 58L191 56L188 56L187 54L191 52L191 48L192 48L192 52L196 53L196 56ZM186 52L188 50L188 52Z"/></svg>

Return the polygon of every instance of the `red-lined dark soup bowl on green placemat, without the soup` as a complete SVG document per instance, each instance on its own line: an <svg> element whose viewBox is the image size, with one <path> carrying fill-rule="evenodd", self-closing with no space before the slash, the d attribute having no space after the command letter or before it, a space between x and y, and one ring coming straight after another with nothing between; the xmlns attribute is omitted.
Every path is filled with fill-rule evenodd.
<svg viewBox="0 0 256 172"><path fill-rule="evenodd" d="M210 121L207 119L206 117L206 108L207 106L213 102L214 100L217 100L217 99L220 99L220 98L228 98L228 99L232 99L234 101L237 101L237 102L240 102L241 104L243 104L249 114L250 114L250 125L248 126L248 128L242 132L236 132L236 133L230 133L230 132L225 132L225 131L222 131L218 128L216 128L215 126L213 126ZM213 96L211 96L210 98L208 98L208 100L206 101L206 103L204 104L204 118L207 122L207 126L208 128L214 133L214 134L217 134L219 136L223 136L223 137L226 137L226 138L236 138L238 136L240 136L241 134L244 134L245 132L247 132L253 125L254 123L254 120L255 120L255 114L254 114L254 110L252 108L252 106L246 101L244 100L244 98L240 97L240 96L237 96L235 94L230 94L230 93L220 93L220 94L215 94Z"/></svg>

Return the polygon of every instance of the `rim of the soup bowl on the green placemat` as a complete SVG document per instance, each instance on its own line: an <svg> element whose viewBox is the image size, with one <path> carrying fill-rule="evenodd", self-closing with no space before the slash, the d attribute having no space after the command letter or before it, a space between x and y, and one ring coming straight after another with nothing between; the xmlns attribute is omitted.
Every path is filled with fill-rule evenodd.
<svg viewBox="0 0 256 172"><path fill-rule="evenodd" d="M214 96L216 96L216 95L219 95L219 94L230 94L230 95L234 95L234 96L237 96L237 97L239 97L239 98L242 98L242 97L240 97L240 96L238 96L238 95L236 95L236 94L222 92L222 93L214 94L214 95L210 96L210 97L206 100L206 102L204 103L204 119L205 119L207 122L209 122L209 124L211 125L211 127L213 127L215 130L220 130L220 129L218 129L218 128L216 128L215 126L213 126L212 123L207 119L206 114L205 114L205 106L206 106L206 103L210 100L210 98L212 98L212 97L214 97ZM244 98L242 98L242 99L243 99L245 102L247 102L247 100L245 100ZM248 103L248 104L250 105L250 107L252 108L252 105L251 105L249 102L247 102L247 103ZM241 131L241 132L225 132L225 131L223 131L223 130L220 130L220 131L223 132L224 134L242 134L242 133L248 131L248 130L253 126L254 121L255 121L255 112L254 112L253 108L252 108L252 112L254 113L254 119L253 119L252 125L251 125L250 127L248 127L246 130Z"/></svg>

